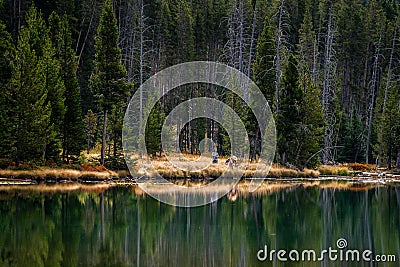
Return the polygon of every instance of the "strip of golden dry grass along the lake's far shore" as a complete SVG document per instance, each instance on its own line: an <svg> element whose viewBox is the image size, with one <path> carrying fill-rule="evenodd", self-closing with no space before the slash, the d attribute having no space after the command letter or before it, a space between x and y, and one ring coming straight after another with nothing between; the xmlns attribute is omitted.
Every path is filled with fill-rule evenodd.
<svg viewBox="0 0 400 267"><path fill-rule="evenodd" d="M189 160L197 160L198 156L186 155ZM196 163L190 163L189 166L195 165ZM225 165L225 158L219 158L217 164L210 164L207 168L200 171L184 171L175 168L165 156L151 159L151 165L154 167L152 171L140 169L140 165L134 169L132 176L148 176L154 177L156 173L162 175L166 179L179 180L179 179L200 179L206 178L218 178L224 172L229 171L232 173L242 172L243 178L252 177L270 177L270 178L317 178L320 175L332 175L332 176L348 176L349 168L347 166L320 166L318 170L304 169L302 171L290 169L287 167L273 164L272 167L267 170L258 170L257 163L248 163L245 165L244 170L228 169ZM150 169L151 170L151 169ZM37 170L0 170L0 178L9 179L29 179L29 180L105 180L109 178L125 178L129 177L130 173L127 170L121 170L118 172L106 170L106 171L80 171L73 169L56 169L56 168L40 168Z"/></svg>

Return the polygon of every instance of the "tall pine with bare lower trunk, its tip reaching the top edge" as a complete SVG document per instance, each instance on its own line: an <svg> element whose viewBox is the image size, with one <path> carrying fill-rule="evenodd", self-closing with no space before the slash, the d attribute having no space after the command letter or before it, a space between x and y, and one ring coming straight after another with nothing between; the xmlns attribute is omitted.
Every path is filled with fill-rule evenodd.
<svg viewBox="0 0 400 267"><path fill-rule="evenodd" d="M98 98L103 111L103 136L101 143L101 164L107 136L107 113L117 101L127 96L130 85L124 80L125 67L121 63L121 50L118 47L118 26L111 0L105 0L99 26L95 37L95 63L90 77L90 86Z"/></svg>

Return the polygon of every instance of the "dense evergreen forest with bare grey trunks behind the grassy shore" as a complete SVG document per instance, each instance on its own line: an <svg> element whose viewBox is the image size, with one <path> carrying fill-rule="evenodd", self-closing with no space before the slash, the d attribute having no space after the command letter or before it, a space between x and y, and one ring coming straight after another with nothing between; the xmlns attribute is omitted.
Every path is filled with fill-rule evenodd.
<svg viewBox="0 0 400 267"><path fill-rule="evenodd" d="M0 158L61 164L97 148L102 164L118 166L135 90L165 67L209 60L260 87L277 163L400 168L399 12L395 0L0 0ZM256 159L254 115L208 84L160 101L146 126L149 153L159 154L171 109L198 96L232 106ZM228 154L224 129L206 119L185 125L182 150L199 153L204 136Z"/></svg>

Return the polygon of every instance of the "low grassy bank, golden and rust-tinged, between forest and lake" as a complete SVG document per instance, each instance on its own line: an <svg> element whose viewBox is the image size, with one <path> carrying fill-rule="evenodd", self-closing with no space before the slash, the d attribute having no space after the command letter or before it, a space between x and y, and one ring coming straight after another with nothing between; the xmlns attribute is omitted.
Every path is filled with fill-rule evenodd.
<svg viewBox="0 0 400 267"><path fill-rule="evenodd" d="M194 160L195 158L190 158ZM99 165L92 167L91 165L82 164L79 169L57 168L57 167L39 167L31 170L18 170L15 168L0 169L0 182L6 183L7 179L15 180L35 180L35 181L104 181L107 179L124 179L136 178L141 176L154 177L157 173L170 180L218 178L224 172L238 172L237 169L228 169L225 160L220 159L219 163L211 164L201 171L182 171L173 167L173 165L165 158L152 160L154 169L146 171L137 167L134 169L133 177L127 170L112 171ZM192 163L190 163L192 164ZM190 166L190 165L189 165ZM252 177L268 177L268 178L318 178L321 176L368 176L375 177L382 173L376 172L374 165L365 164L343 164L339 166L322 165L318 169L297 170L273 164L269 170L257 171L256 163L249 163L246 170L243 171L243 178ZM387 174L391 175L391 174ZM397 177L397 176L396 176ZM396 178L394 177L394 178Z"/></svg>

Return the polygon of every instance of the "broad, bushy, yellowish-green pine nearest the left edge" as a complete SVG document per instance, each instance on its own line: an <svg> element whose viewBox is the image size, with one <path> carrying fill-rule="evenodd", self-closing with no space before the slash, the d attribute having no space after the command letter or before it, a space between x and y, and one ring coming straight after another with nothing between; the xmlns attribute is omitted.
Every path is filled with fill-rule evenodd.
<svg viewBox="0 0 400 267"><path fill-rule="evenodd" d="M5 93L10 109L10 144L15 160L44 159L45 147L53 134L51 105L47 101L45 66L31 48L35 28L22 27L15 56L11 62L11 80Z"/></svg>

